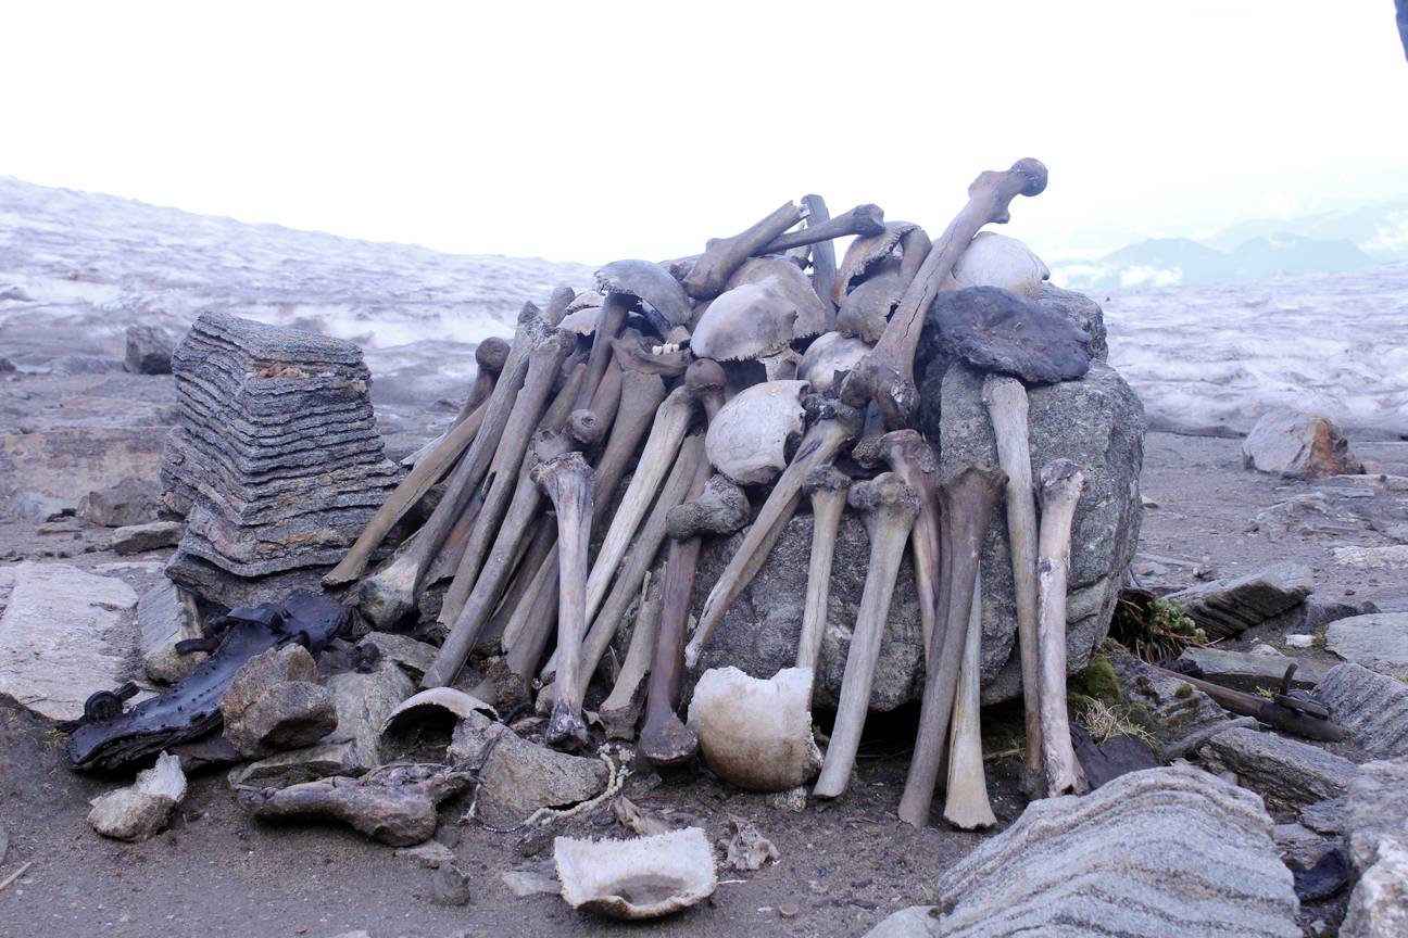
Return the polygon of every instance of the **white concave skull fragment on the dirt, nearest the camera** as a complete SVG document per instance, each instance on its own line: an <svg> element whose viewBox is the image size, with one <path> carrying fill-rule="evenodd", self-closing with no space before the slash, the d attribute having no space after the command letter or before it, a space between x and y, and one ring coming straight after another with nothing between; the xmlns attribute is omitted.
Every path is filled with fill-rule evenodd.
<svg viewBox="0 0 1408 938"><path fill-rule="evenodd" d="M622 841L559 837L552 855L563 900L610 918L659 918L718 887L714 855L698 827Z"/></svg>

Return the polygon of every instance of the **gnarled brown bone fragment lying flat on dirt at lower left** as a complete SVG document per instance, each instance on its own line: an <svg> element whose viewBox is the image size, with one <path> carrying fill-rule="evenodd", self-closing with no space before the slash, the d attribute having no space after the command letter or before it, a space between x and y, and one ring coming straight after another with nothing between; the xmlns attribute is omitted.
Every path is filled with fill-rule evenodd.
<svg viewBox="0 0 1408 938"><path fill-rule="evenodd" d="M331 817L391 847L435 834L435 807L463 792L470 772L422 762L393 762L359 779L342 776L283 789L241 788L239 804L260 820Z"/></svg>

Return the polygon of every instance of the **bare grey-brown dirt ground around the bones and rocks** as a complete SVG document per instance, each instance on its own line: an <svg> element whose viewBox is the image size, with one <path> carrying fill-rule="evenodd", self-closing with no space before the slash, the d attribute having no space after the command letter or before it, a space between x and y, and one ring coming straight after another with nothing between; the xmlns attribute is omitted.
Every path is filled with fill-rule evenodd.
<svg viewBox="0 0 1408 938"><path fill-rule="evenodd" d="M45 520L62 509L65 487L155 480L173 392L165 375L115 370L90 374L8 374L0 380L0 609L20 563L63 564L115 578L142 595L161 581L169 548L114 553L113 529L82 518ZM448 420L449 408L421 418L383 416L394 453ZM13 429L11 429L13 428ZM1408 475L1408 443L1352 440L1377 473ZM1408 492L1371 478L1291 481L1242 468L1233 439L1152 433L1142 474L1146 512L1135 574L1157 592L1235 578L1274 564L1302 564L1319 600L1384 612L1408 610L1402 579ZM86 468L84 468L86 467ZM82 471L92 478L82 477ZM101 475L103 478L97 478ZM104 481L106 480L106 481ZM1366 548L1366 550L1349 550ZM1367 609L1367 606L1363 606ZM1309 631L1309 648L1284 633ZM1322 624L1294 617L1219 644L1256 643L1332 665ZM84 690L86 693L86 690ZM79 698L82 699L82 693ZM988 748L1001 750L1011 709L986 712ZM741 793L707 773L632 775L625 795L672 825L696 824L724 844L734 818L756 825L780 859L756 872L719 869L721 885L701 907L650 927L655 934L859 934L903 907L932 903L935 883L988 838L894 816L915 713L872 720L859 778L846 797L794 811L777 799ZM517 897L504 873L552 876L552 837L615 835L607 806L546 831L497 834L463 824L463 802L442 807L438 834L469 879L466 906L434 901L431 869L337 825L266 825L235 804L220 769L196 772L170 828L142 844L97 837L89 799L120 780L79 776L62 761L51 723L0 700L0 932L27 935L338 935L375 938L456 934L594 934L600 921L553 896ZM1332 747L1333 748L1333 747ZM1353 747L1340 751L1356 761ZM988 764L1000 825L1025 800L1010 755ZM1273 806L1278 821L1294 807ZM1304 830L1304 828L1302 828ZM1290 837L1294 831L1284 831ZM719 851L722 854L722 851ZM532 879L532 876L527 878ZM1301 924L1326 934L1345 893L1307 903Z"/></svg>

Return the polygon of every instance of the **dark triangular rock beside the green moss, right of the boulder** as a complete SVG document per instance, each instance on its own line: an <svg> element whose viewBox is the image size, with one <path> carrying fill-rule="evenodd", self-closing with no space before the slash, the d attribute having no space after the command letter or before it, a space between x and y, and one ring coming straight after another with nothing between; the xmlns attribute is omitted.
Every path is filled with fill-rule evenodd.
<svg viewBox="0 0 1408 938"><path fill-rule="evenodd" d="M1208 695L1124 648L1111 648L1110 664L1115 668L1121 695L1131 705L1131 717L1149 731L1164 762L1193 752L1208 738L1239 724ZM1240 724L1255 726L1256 721L1247 717Z"/></svg>

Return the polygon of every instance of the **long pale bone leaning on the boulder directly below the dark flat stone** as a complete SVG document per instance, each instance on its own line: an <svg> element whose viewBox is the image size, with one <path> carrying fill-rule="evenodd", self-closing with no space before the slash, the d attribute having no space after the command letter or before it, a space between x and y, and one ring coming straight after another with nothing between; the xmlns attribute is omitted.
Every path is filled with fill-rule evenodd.
<svg viewBox="0 0 1408 938"><path fill-rule="evenodd" d="M1026 388L1017 378L987 375L983 381L997 437L997 463L1007 474L1007 540L1012 555L1012 593L1017 603L1017 641L1022 657L1022 707L1026 731L1024 783L1035 795L1042 782L1042 719L1039 706L1041 653L1036 637L1036 489L1026 439Z"/></svg>

